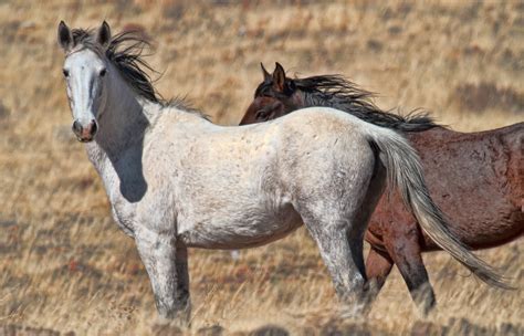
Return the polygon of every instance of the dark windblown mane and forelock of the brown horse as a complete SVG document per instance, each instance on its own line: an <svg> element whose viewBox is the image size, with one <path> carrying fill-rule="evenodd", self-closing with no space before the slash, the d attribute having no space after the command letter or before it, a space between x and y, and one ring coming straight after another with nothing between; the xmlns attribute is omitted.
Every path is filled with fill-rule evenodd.
<svg viewBox="0 0 524 336"><path fill-rule="evenodd" d="M365 122L402 132L422 132L442 127L421 108L407 115L382 111L373 103L375 94L358 87L342 75L318 75L305 78L286 78L283 94L293 91L304 93L305 106L327 106L347 112ZM272 83L264 81L259 85L255 96L274 94ZM276 97L279 98L279 97Z"/></svg>

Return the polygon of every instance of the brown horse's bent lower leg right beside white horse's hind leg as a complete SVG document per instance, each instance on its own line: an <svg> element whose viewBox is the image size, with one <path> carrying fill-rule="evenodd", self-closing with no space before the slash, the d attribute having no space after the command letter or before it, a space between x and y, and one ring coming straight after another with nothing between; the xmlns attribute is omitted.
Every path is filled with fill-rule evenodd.
<svg viewBox="0 0 524 336"><path fill-rule="evenodd" d="M373 303L380 292L386 277L388 277L389 272L394 262L387 252L382 252L371 248L366 260L366 275L368 279L368 301Z"/></svg>

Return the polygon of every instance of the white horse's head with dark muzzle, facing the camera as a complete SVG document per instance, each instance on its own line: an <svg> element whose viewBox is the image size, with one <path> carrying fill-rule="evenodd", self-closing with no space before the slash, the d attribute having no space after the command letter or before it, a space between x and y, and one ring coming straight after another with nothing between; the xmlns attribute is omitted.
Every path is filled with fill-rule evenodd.
<svg viewBox="0 0 524 336"><path fill-rule="evenodd" d="M73 114L73 132L80 141L94 139L97 119L107 101L109 61L105 52L111 43L111 29L104 21L95 34L71 31L59 24L59 44L65 52L63 74Z"/></svg>

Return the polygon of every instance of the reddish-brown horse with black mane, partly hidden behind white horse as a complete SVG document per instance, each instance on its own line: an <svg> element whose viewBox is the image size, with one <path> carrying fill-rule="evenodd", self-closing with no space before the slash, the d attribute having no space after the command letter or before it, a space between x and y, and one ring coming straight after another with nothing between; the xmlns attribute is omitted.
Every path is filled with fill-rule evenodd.
<svg viewBox="0 0 524 336"><path fill-rule="evenodd" d="M369 123L405 132L422 159L431 197L450 217L450 230L472 249L510 242L524 232L524 123L479 133L459 133L427 115L401 117L381 112L370 93L337 75L289 78L276 63L262 66L264 81L241 125L264 122L302 107L335 107ZM398 195L382 196L366 232L371 250L366 273L371 298L394 263L413 301L428 313L434 293L421 258L440 250L421 230Z"/></svg>

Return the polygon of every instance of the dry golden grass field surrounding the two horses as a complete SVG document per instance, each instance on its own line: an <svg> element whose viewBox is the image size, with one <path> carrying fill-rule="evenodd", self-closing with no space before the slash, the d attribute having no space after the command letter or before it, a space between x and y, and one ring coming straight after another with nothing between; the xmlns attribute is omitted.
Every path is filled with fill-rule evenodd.
<svg viewBox="0 0 524 336"><path fill-rule="evenodd" d="M240 120L261 61L301 76L342 73L380 93L384 108L425 107L458 130L524 120L522 1L0 1L0 335L161 333L134 242L70 132L61 19L144 29L159 92L187 95L223 125ZM479 254L524 286L522 240ZM191 250L184 333L524 334L522 290L490 288L446 253L425 261L439 301L428 318L394 270L366 321L342 321L304 230L235 261Z"/></svg>

